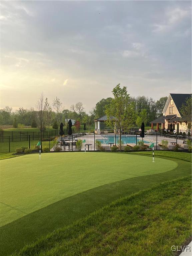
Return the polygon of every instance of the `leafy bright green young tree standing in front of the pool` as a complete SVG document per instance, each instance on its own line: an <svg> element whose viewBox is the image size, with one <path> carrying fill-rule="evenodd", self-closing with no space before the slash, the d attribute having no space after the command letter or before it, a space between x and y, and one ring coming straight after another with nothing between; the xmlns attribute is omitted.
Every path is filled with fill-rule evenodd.
<svg viewBox="0 0 192 256"><path fill-rule="evenodd" d="M135 105L130 101L127 88L118 84L112 91L114 98L106 106L107 121L110 127L115 127L119 132L119 147L121 150L122 131L127 131L135 121Z"/></svg>

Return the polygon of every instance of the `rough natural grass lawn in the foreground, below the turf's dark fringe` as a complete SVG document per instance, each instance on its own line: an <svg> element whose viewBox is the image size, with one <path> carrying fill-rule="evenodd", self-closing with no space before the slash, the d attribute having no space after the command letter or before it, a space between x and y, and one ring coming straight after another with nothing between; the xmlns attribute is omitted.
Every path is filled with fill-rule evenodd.
<svg viewBox="0 0 192 256"><path fill-rule="evenodd" d="M191 177L113 202L14 255L171 256L191 236Z"/></svg>

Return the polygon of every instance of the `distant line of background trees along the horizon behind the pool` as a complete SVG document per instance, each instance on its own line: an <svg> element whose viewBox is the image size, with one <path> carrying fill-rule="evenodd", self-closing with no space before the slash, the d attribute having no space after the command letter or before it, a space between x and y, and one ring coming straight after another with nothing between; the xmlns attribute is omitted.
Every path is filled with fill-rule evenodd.
<svg viewBox="0 0 192 256"><path fill-rule="evenodd" d="M129 97L129 102L134 109L134 125L139 126L144 120L148 125L150 121L162 115L162 110L167 101L167 97L162 97L155 101L146 96ZM93 121L106 114L106 107L112 103L112 98L101 99L96 105L86 113L82 102L74 103L70 109L65 109L62 102L56 97L52 103L48 101L42 93L34 107L26 109L20 107L16 111L6 106L0 109L0 125L13 125L15 128L18 124L25 126L38 127L40 130L47 127L58 129L60 122L65 125L65 119L74 119L81 124L93 124Z"/></svg>

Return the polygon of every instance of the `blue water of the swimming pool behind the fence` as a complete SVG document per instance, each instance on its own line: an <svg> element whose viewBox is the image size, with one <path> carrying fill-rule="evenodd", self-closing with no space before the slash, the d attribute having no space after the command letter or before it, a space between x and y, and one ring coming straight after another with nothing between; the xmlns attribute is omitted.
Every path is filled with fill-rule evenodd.
<svg viewBox="0 0 192 256"><path fill-rule="evenodd" d="M98 140L98 139L97 139ZM119 140L119 136L116 135L116 144L118 143L118 140ZM121 140L123 141L123 144L130 144L130 143L133 143L133 144L136 144L136 140L137 140L137 143L138 141L142 141L141 137L140 136L126 136L126 135L122 135L121 136ZM109 135L104 135L103 136L103 139L99 140L102 144L109 144L109 143L114 143L115 144L115 135L114 136L109 136ZM145 141L143 140L143 142L145 144L150 144L149 141Z"/></svg>

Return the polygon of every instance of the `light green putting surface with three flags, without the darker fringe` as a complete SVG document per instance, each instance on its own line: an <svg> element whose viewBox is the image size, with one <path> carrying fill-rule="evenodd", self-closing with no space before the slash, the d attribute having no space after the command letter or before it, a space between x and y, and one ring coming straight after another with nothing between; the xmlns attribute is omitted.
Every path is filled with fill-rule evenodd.
<svg viewBox="0 0 192 256"><path fill-rule="evenodd" d="M1 160L1 226L104 184L167 172L171 160L129 154L47 153Z"/></svg>

